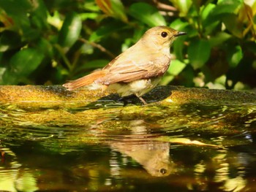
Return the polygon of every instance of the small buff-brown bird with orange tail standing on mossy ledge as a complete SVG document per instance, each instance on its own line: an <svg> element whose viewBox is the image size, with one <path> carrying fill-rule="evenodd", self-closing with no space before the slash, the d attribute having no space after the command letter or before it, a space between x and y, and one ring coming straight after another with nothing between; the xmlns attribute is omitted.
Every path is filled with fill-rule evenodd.
<svg viewBox="0 0 256 192"><path fill-rule="evenodd" d="M187 33L167 26L150 28L135 45L103 69L63 86L69 91L82 86L114 90L122 97L135 94L146 104L141 96L151 91L165 74L170 65L170 45L176 37L184 34Z"/></svg>

